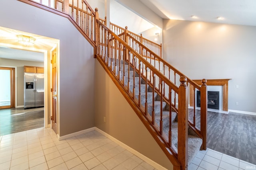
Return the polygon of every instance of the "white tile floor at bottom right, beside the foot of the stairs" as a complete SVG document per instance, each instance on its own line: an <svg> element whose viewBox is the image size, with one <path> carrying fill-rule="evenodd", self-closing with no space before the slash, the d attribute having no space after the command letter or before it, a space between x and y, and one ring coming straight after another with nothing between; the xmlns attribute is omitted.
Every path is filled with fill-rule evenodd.
<svg viewBox="0 0 256 170"><path fill-rule="evenodd" d="M212 149L200 150L188 170L249 170L256 165Z"/></svg>

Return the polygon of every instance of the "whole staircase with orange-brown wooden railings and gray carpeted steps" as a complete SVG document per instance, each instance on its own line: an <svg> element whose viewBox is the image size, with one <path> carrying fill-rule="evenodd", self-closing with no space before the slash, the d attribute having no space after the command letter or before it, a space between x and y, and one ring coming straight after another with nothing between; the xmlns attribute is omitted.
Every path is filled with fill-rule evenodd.
<svg viewBox="0 0 256 170"><path fill-rule="evenodd" d="M206 150L206 80L198 85L162 59L162 45L155 45L126 29L118 35L106 27L86 0L69 4L54 0L54 7L33 0L19 0L67 17L94 47L94 57L111 76L127 102L164 151L174 170L186 170L197 151ZM111 24L113 25L113 24ZM118 27L117 25L115 27ZM120 29L120 27L118 27ZM154 45L152 45L154 44ZM201 94L201 113L188 113Z"/></svg>

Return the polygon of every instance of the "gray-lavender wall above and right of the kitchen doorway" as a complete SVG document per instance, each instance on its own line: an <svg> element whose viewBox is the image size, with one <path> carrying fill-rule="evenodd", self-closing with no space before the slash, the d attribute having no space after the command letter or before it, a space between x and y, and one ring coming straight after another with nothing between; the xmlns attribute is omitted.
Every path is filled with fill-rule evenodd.
<svg viewBox="0 0 256 170"><path fill-rule="evenodd" d="M5 16L0 26L60 40L58 134L94 127L94 58L88 41L68 19L17 0L1 1L0 16Z"/></svg>

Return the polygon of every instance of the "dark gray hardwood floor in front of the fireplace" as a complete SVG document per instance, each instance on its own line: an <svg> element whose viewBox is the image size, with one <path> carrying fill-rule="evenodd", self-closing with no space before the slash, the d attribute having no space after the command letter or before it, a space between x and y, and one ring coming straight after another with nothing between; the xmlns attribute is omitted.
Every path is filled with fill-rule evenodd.
<svg viewBox="0 0 256 170"><path fill-rule="evenodd" d="M189 109L192 119L193 109ZM256 164L256 115L208 111L207 147L235 158ZM196 110L200 128L200 112Z"/></svg>

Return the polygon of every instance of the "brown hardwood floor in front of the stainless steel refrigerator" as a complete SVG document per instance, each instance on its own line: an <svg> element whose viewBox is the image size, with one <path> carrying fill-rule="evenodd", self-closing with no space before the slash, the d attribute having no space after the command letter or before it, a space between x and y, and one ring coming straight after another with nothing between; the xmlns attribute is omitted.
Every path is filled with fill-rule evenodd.
<svg viewBox="0 0 256 170"><path fill-rule="evenodd" d="M0 109L0 136L44 127L44 107Z"/></svg>

